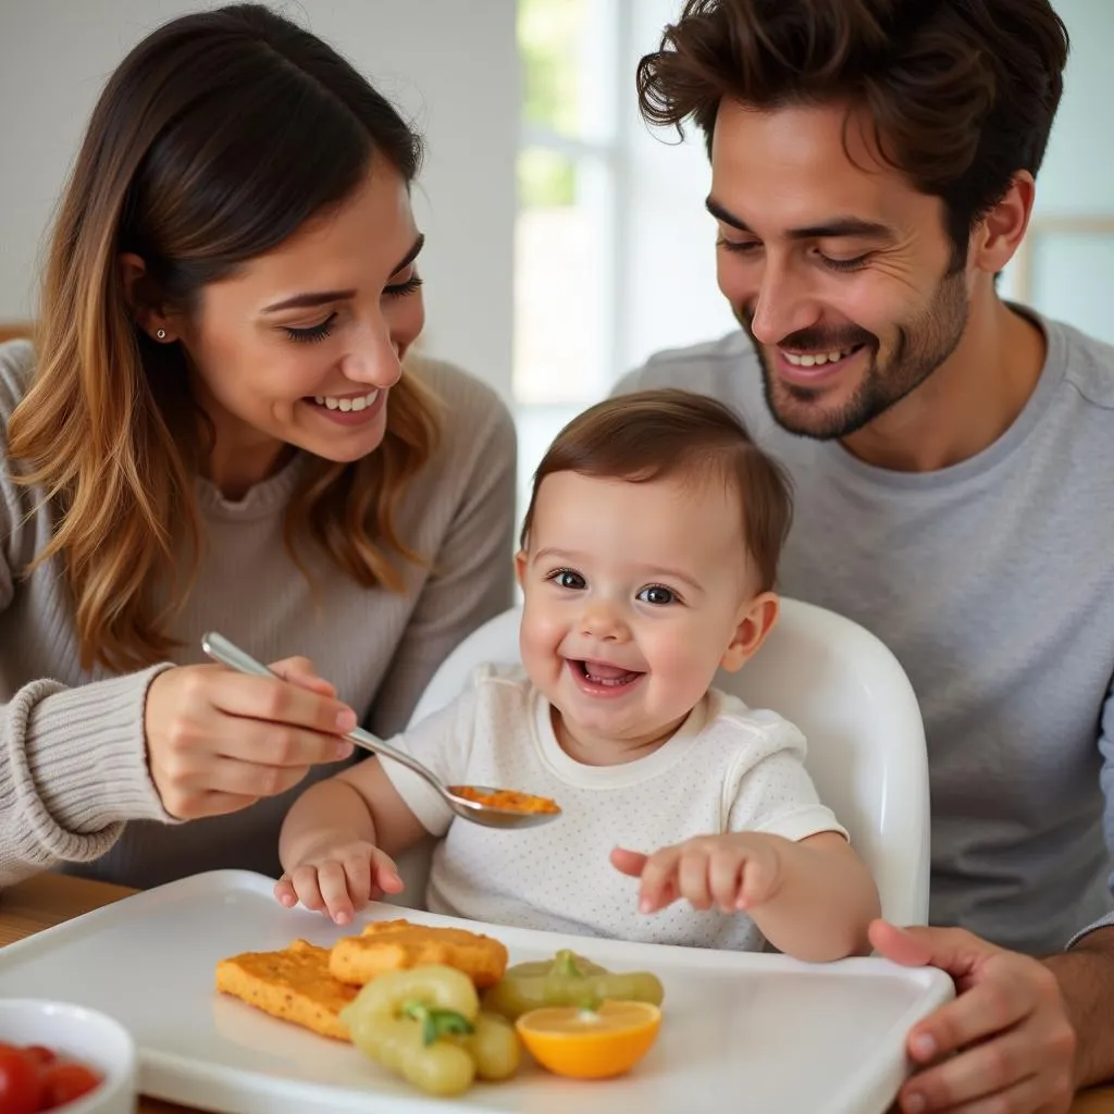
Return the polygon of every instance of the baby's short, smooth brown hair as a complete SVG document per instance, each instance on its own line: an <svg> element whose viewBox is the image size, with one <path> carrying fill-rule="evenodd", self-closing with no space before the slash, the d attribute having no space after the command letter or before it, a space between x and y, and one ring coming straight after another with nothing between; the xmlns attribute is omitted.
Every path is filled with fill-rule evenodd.
<svg viewBox="0 0 1114 1114"><path fill-rule="evenodd" d="M721 480L739 498L758 590L774 587L793 512L789 477L754 443L742 421L714 399L663 388L607 399L574 418L534 473L520 537L524 549L541 482L556 472L631 483L674 477L701 483Z"/></svg>

